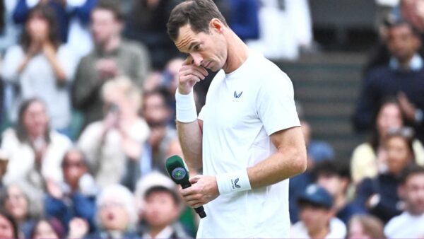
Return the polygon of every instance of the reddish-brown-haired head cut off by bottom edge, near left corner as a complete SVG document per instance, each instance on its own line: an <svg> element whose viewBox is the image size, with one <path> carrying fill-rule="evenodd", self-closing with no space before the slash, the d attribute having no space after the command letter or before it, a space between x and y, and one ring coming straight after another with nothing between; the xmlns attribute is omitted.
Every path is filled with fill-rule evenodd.
<svg viewBox="0 0 424 239"><path fill-rule="evenodd" d="M35 223L31 238L50 238L59 239L64 238L65 229L61 225L60 221L56 218L43 218Z"/></svg>

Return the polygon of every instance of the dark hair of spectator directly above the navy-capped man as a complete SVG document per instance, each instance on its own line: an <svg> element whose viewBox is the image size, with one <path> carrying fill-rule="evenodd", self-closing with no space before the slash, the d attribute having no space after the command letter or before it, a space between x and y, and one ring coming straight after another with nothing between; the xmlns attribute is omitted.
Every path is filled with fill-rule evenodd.
<svg viewBox="0 0 424 239"><path fill-rule="evenodd" d="M348 165L345 162L341 161L319 161L314 166L313 171L315 177L319 177L319 175L336 175L338 177L345 177L348 178L348 180L351 180L351 171L349 170Z"/></svg>

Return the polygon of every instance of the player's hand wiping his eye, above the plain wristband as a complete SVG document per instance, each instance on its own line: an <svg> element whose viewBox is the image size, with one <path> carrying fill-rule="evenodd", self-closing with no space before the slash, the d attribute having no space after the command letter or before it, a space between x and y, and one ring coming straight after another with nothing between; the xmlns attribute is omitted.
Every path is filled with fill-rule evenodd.
<svg viewBox="0 0 424 239"><path fill-rule="evenodd" d="M204 80L204 78L208 76L208 71L202 66L194 65L193 58L189 56L182 64L178 74L178 91L182 95L188 95L192 92L193 86L197 82Z"/></svg>

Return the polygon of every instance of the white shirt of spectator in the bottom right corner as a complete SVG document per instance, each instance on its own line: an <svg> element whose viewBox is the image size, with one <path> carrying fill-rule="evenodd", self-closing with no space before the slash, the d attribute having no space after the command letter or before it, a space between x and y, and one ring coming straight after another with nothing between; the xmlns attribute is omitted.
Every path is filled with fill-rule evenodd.
<svg viewBox="0 0 424 239"><path fill-rule="evenodd" d="M391 218L384 227L387 238L424 238L424 214L414 216L404 212Z"/></svg>

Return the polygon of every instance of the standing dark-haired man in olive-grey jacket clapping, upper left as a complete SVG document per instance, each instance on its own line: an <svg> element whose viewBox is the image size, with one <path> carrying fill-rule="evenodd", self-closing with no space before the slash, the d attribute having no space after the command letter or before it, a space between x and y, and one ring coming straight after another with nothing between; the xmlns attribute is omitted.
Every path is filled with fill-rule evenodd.
<svg viewBox="0 0 424 239"><path fill-rule="evenodd" d="M129 76L140 88L150 71L146 49L120 36L124 24L119 1L100 0L91 13L95 49L78 64L72 101L84 115L83 128L102 119L102 85L116 76Z"/></svg>

